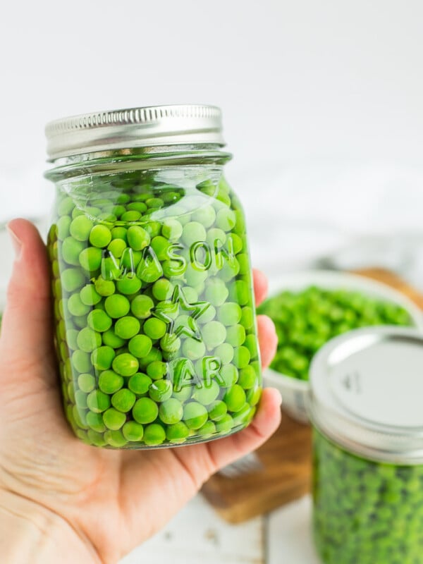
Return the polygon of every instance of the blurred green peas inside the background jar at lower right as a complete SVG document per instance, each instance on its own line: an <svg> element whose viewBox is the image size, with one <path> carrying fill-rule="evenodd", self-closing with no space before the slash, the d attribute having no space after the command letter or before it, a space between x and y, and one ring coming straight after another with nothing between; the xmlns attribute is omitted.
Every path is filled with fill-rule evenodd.
<svg viewBox="0 0 423 564"><path fill-rule="evenodd" d="M422 564L422 465L365 460L314 430L313 496L325 564Z"/></svg>

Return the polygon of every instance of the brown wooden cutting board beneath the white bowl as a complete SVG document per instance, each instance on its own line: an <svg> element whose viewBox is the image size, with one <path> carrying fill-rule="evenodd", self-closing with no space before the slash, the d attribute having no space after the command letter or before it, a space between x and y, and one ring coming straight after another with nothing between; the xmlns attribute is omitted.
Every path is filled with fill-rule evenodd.
<svg viewBox="0 0 423 564"><path fill-rule="evenodd" d="M384 282L407 295L423 309L423 295L396 274L366 269L356 274ZM202 494L225 520L231 523L267 513L306 494L311 483L311 429L282 412L276 433L256 451L262 468L226 477L215 474L204 484Z"/></svg>

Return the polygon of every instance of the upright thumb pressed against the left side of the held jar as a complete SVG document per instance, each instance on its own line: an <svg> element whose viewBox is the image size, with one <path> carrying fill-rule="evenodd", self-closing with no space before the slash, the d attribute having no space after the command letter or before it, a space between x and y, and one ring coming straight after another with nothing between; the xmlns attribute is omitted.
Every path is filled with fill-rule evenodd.
<svg viewBox="0 0 423 564"><path fill-rule="evenodd" d="M47 252L37 228L25 219L8 223L16 259L1 324L0 352L8 362L32 364L51 350Z"/></svg>

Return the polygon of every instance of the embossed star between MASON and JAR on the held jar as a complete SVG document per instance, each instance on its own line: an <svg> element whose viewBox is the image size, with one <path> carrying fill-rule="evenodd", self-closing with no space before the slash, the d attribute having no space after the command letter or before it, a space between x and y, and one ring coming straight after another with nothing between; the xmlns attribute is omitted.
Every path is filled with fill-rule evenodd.
<svg viewBox="0 0 423 564"><path fill-rule="evenodd" d="M183 289L177 284L173 290L171 300L161 302L160 307L155 307L152 313L154 317L168 324L167 332L169 334L173 334L176 337L185 335L192 337L195 341L202 341L196 320L206 311L209 305L209 302L194 302L190 304ZM176 318L180 315L180 309L187 312L187 315L186 319L182 319L180 323L177 323Z"/></svg>

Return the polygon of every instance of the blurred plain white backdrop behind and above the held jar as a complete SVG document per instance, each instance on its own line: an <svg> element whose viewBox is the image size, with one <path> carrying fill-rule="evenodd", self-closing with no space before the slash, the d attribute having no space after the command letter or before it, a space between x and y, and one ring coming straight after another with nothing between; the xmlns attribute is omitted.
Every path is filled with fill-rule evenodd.
<svg viewBox="0 0 423 564"><path fill-rule="evenodd" d="M0 221L49 212L47 121L210 103L257 266L381 265L423 287L422 24L418 0L8 2Z"/></svg>

